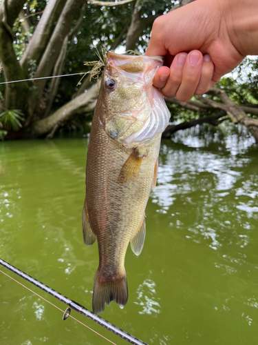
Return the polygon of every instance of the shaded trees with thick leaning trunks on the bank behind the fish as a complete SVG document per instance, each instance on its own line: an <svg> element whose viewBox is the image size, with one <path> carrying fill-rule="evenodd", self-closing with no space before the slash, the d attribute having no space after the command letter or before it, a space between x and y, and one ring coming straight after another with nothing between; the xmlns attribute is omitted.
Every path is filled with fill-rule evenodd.
<svg viewBox="0 0 258 345"><path fill-rule="evenodd" d="M2 0L0 4L1 82L54 77L89 70L96 43L114 50L144 52L158 16L193 0ZM239 67L257 67L248 61ZM241 73L240 73L241 74ZM0 85L0 137L53 137L61 126L89 121L98 88L85 77L36 79ZM241 123L258 144L257 76L241 83L223 79L204 96L191 101L166 99L176 130L222 121ZM186 120L186 121L183 121Z"/></svg>

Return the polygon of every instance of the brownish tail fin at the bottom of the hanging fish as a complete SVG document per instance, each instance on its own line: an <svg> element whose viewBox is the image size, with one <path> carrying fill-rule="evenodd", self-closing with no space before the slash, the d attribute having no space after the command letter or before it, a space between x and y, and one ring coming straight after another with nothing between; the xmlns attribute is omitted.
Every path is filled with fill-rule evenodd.
<svg viewBox="0 0 258 345"><path fill-rule="evenodd" d="M115 301L120 308L124 308L127 304L128 289L127 276L108 281L103 279L100 272L97 270L94 279L94 289L92 297L92 311L94 314L100 314L105 309L105 303L109 306L110 302Z"/></svg>

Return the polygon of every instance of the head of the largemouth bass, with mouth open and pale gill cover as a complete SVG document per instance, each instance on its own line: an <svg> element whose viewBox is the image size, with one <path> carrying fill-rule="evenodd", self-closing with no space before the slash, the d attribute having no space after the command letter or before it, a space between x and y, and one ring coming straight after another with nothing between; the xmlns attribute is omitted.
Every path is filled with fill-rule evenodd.
<svg viewBox="0 0 258 345"><path fill-rule="evenodd" d="M152 84L162 64L162 57L108 52L100 90L101 121L112 139L135 146L166 128L170 113Z"/></svg>

